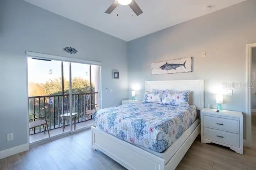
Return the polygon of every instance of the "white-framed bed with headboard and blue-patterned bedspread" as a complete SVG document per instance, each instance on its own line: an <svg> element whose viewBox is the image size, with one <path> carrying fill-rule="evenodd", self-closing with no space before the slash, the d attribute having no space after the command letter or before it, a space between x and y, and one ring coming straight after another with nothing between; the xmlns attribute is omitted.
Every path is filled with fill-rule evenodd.
<svg viewBox="0 0 256 170"><path fill-rule="evenodd" d="M101 109L94 114L92 148L129 170L174 170L200 132L196 109L204 106L204 81L146 82L146 91L153 89L190 90L190 106L141 102Z"/></svg>

